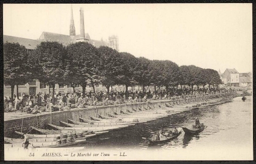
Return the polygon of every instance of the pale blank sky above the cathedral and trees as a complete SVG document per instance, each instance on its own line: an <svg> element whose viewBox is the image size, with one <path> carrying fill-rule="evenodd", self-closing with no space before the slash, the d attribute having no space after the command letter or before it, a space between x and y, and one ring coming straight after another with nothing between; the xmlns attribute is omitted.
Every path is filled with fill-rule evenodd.
<svg viewBox="0 0 256 164"><path fill-rule="evenodd" d="M251 4L73 4L76 35L81 7L91 39L117 35L135 57L252 71ZM70 18L71 4L4 4L4 35L69 35Z"/></svg>

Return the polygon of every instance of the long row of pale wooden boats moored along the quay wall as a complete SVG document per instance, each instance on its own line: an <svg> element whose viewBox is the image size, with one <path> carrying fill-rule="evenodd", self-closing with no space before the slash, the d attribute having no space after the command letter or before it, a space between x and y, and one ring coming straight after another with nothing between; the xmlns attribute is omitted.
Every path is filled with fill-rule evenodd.
<svg viewBox="0 0 256 164"><path fill-rule="evenodd" d="M60 121L61 126L48 124L51 129L40 129L38 127L31 126L33 131L40 134L29 134L29 143L32 147L65 147L70 145L75 145L77 143L86 142L86 139L91 138L96 135L107 133L114 129L120 129L128 126L133 126L138 123L145 123L147 121L152 121L158 118L167 117L175 112L182 112L186 110L198 109L201 107L207 108L208 106L218 105L225 102L230 102L230 99L219 98L218 100L209 99L206 102L181 102L181 103L170 103L165 102L162 104L148 103L147 107L137 107L131 110L126 109L126 111L121 110L120 113L105 113L105 115L97 115L98 117L89 116L89 118L79 117L79 121L67 119L67 122ZM204 128L205 126L202 126ZM188 129L183 128L184 132L199 132L203 129ZM24 133L15 131L17 134L24 135ZM61 138L61 136L66 136L67 133L72 133L68 140L67 138ZM181 133L177 134L177 136ZM159 142L170 141L177 136L166 137L166 140L160 140ZM4 138L6 147L22 147L24 139L12 139ZM62 142L61 142L62 141ZM69 141L69 142L66 142ZM152 141L148 139L148 141Z"/></svg>

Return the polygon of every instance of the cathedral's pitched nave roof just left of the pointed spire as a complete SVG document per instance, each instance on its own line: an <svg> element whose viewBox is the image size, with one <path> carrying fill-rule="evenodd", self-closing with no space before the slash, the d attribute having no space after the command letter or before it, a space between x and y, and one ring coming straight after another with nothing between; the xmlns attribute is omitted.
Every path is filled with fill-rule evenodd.
<svg viewBox="0 0 256 164"><path fill-rule="evenodd" d="M51 41L51 42L56 41L66 45L70 44L72 41L69 35L49 33L49 32L42 32L41 36L39 37L39 40Z"/></svg>

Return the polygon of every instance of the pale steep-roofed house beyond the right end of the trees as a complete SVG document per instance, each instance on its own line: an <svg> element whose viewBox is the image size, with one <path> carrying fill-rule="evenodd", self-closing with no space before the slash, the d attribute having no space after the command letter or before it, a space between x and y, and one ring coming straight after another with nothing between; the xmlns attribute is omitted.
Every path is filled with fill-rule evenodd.
<svg viewBox="0 0 256 164"><path fill-rule="evenodd" d="M222 80L225 86L239 87L239 72L234 68L227 68L222 74Z"/></svg>

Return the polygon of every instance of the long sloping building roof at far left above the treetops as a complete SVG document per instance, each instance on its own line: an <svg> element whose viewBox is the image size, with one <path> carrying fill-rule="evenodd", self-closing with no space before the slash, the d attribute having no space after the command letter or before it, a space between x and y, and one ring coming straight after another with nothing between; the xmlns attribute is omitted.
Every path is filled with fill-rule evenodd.
<svg viewBox="0 0 256 164"><path fill-rule="evenodd" d="M38 44L41 43L39 40L33 40L33 39L26 39L26 38L19 38L19 37L13 37L4 35L3 37L4 43L19 43L20 45L24 45L27 49L35 49Z"/></svg>

